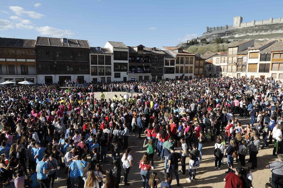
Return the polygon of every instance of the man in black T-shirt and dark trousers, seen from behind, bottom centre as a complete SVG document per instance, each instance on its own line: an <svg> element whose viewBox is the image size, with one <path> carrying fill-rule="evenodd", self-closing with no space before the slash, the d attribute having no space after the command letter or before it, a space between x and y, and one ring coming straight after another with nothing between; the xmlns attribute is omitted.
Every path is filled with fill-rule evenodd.
<svg viewBox="0 0 283 188"><path fill-rule="evenodd" d="M168 163L169 163L169 174L172 177L173 173L175 174L177 180L177 187L180 187L179 183L179 174L178 174L178 162L182 161L181 155L179 153L175 153L173 147L170 147L170 154L168 155ZM171 185L172 178L169 180L169 185Z"/></svg>

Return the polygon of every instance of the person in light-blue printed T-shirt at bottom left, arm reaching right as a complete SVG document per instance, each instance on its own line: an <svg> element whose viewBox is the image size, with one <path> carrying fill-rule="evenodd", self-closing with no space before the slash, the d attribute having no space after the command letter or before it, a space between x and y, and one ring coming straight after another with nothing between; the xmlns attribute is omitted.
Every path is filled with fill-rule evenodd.
<svg viewBox="0 0 283 188"><path fill-rule="evenodd" d="M42 157L41 161L38 161L36 164L36 172L37 172L37 180L40 184L40 187L48 188L49 187L49 181L47 179L47 173L52 172L56 169L48 170L47 169L47 163L45 161L48 159L48 155L45 154Z"/></svg>

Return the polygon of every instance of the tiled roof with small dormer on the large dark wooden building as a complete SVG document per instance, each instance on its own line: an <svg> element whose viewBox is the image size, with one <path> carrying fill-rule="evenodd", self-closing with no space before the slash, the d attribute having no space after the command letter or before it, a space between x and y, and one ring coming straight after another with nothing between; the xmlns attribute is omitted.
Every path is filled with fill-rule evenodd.
<svg viewBox="0 0 283 188"><path fill-rule="evenodd" d="M87 40L68 39L68 43L63 43L62 38L52 37L37 37L36 45L90 48Z"/></svg>

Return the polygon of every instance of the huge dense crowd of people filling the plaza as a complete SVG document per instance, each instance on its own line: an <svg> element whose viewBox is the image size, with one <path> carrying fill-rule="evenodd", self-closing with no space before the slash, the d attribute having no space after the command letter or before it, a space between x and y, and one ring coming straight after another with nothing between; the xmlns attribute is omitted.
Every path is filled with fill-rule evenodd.
<svg viewBox="0 0 283 188"><path fill-rule="evenodd" d="M174 176L180 187L179 164L184 176L188 171L186 181L195 181L202 148L214 140L215 170L227 157L225 187L252 187L258 151L274 144L279 161L266 166L272 169L272 185L266 186L281 188L282 88L272 78L229 77L93 83L70 90L1 87L1 186L53 188L63 172L67 188L131 185L136 164L129 138L145 138L138 166L144 188L170 188ZM94 97L97 91L100 98ZM105 91L131 94L106 99ZM251 120L245 128L239 120L244 118ZM154 170L160 161L162 175Z"/></svg>

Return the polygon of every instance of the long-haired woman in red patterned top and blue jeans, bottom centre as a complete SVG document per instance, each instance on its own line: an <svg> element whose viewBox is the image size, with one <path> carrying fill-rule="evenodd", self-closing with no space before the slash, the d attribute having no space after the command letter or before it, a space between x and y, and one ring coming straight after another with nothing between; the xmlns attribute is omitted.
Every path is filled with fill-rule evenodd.
<svg viewBox="0 0 283 188"><path fill-rule="evenodd" d="M149 170L151 169L151 162L149 161L148 154L144 154L140 160L139 168L141 169L142 185L143 188L148 187Z"/></svg>

